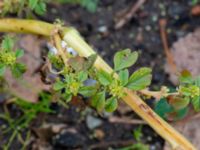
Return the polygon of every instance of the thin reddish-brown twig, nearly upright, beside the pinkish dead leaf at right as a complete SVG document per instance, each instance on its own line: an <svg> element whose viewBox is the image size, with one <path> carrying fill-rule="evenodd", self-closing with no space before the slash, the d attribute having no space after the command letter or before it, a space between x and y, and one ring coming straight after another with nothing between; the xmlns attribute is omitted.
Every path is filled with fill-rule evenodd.
<svg viewBox="0 0 200 150"><path fill-rule="evenodd" d="M177 67L176 67L176 64L174 62L174 58L173 58L173 55L172 55L172 53L169 49L168 41L167 41L167 33L166 33L167 21L166 21L166 19L161 19L159 21L159 25L160 25L160 36L162 38L162 43L163 43L165 55L167 57L167 62L170 65L172 71L176 74L177 73Z"/></svg>

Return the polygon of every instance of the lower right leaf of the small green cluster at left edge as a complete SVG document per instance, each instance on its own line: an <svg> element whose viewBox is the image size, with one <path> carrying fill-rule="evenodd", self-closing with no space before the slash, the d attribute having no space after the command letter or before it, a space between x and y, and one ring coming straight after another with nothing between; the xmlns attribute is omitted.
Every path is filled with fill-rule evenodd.
<svg viewBox="0 0 200 150"><path fill-rule="evenodd" d="M11 71L14 77L19 78L22 76L22 74L26 71L26 66L21 63L15 63L11 67Z"/></svg>

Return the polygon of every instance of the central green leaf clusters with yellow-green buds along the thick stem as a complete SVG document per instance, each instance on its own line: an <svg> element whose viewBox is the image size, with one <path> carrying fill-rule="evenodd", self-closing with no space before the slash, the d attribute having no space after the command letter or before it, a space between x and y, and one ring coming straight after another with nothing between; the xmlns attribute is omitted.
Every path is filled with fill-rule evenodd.
<svg viewBox="0 0 200 150"><path fill-rule="evenodd" d="M126 95L124 88L136 91L151 83L150 68L140 68L129 77L127 68L137 61L137 52L129 49L117 52L114 56L115 72L111 74L93 67L96 58L95 54L88 58L68 58L67 70L63 70L60 79L54 84L54 90L64 96L65 102L69 102L73 96L82 95L91 99L91 106L99 112L104 109L112 112L117 109L118 100ZM119 73L118 79L114 78L116 73ZM86 85L91 80L95 83Z"/></svg>

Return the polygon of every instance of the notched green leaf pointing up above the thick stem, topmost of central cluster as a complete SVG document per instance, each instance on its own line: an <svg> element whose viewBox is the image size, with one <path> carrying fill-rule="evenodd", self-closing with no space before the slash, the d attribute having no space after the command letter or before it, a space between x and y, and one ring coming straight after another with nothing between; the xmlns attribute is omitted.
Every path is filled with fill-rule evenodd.
<svg viewBox="0 0 200 150"><path fill-rule="evenodd" d="M132 66L138 59L138 53L132 52L130 49L117 52L114 56L114 70L119 71Z"/></svg>

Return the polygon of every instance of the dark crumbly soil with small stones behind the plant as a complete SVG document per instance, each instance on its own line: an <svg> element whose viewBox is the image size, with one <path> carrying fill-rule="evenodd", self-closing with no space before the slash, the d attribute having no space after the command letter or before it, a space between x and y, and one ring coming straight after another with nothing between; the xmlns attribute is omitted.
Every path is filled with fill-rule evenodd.
<svg viewBox="0 0 200 150"><path fill-rule="evenodd" d="M161 18L167 19L168 40L169 46L171 46L173 42L195 30L199 26L200 18L190 15L191 0L151 0L147 1L123 28L115 30L117 16L122 14L123 10L131 7L134 2L101 0L95 13L89 13L77 5L51 4L48 6L47 15L39 17L39 19L54 22L59 18L65 24L74 26L111 66L113 65L111 60L116 51L125 48L139 51L140 58L130 71L134 71L138 67L149 66L153 68L154 73L152 89L157 89L163 84L172 86L168 75L164 72L165 55L158 22ZM2 95L0 98L2 99ZM149 103L152 104L152 101L149 100ZM140 124L109 121L109 117L113 116L138 119L138 116L124 105L110 116L108 114L97 115L91 109L81 111L75 106L66 109L53 104L52 108L56 113L40 114L38 117L40 119L33 121L30 129L34 133L34 138L30 141L27 149L39 149L39 147L53 150L109 149L111 147L114 149L137 142L134 139L133 130L141 126ZM12 107L9 110L15 111ZM124 110L126 111L124 112ZM2 111L3 108L0 105L0 113ZM87 125L88 116L92 116L92 121L94 119L100 121L99 126L90 129ZM0 120L0 125L2 124L5 123ZM65 127L60 132L41 136L38 132L48 131L48 128L42 127L42 124L49 126L59 124ZM142 125L142 134L142 143L149 145L151 150L163 149L165 141L148 125ZM0 149L7 138L0 135ZM16 150L20 147L19 142L15 141L10 149Z"/></svg>

